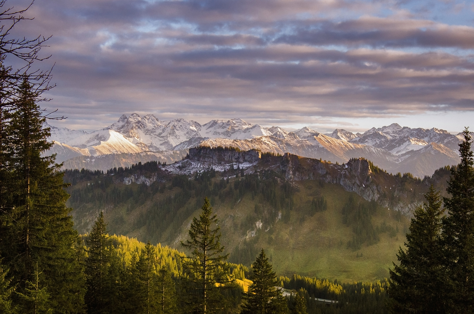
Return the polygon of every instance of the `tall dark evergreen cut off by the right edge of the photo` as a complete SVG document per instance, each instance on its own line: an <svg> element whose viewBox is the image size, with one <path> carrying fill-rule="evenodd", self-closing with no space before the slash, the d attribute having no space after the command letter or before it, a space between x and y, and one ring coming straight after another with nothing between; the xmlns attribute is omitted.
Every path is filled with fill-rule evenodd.
<svg viewBox="0 0 474 314"><path fill-rule="evenodd" d="M443 219L443 239L449 281L445 298L448 313L474 312L474 158L468 128L459 144L461 162L451 169L443 198L448 215Z"/></svg>

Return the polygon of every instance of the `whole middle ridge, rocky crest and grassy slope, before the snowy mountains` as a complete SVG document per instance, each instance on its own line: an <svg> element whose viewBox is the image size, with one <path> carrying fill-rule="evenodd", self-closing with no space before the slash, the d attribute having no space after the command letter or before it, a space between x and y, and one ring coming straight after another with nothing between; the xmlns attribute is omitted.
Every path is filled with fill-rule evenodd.
<svg viewBox="0 0 474 314"><path fill-rule="evenodd" d="M81 233L103 211L110 233L179 248L207 196L230 262L249 266L264 248L282 275L373 280L387 276L428 186L444 191L448 177L449 167L421 180L364 158L200 147L172 165L67 170L64 180Z"/></svg>

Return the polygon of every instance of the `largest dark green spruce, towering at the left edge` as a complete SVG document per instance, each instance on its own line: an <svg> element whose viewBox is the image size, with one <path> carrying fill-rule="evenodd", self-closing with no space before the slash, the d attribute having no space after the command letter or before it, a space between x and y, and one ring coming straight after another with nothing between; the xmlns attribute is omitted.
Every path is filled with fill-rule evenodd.
<svg viewBox="0 0 474 314"><path fill-rule="evenodd" d="M27 80L20 87L8 123L9 187L1 216L0 249L19 292L34 280L31 274L37 261L55 312L80 313L83 277L74 250L78 235L71 209L65 206L67 185L55 156L42 156L52 142L47 140L49 129L43 128L38 94Z"/></svg>

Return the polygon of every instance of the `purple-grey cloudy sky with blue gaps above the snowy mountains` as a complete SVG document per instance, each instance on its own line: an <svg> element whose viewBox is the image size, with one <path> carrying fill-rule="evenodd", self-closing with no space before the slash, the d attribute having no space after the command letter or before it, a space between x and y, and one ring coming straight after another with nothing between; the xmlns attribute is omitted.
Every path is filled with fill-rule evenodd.
<svg viewBox="0 0 474 314"><path fill-rule="evenodd" d="M474 128L471 1L36 0L24 15L12 36L52 36L35 66L54 64L42 106L68 117L58 127L137 112L319 132Z"/></svg>

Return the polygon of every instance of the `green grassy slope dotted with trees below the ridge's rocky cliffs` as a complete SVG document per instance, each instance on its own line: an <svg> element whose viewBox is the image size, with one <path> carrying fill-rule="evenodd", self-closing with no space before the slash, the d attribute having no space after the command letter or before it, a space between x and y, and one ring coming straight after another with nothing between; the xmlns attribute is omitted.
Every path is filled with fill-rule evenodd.
<svg viewBox="0 0 474 314"><path fill-rule="evenodd" d="M73 183L68 188L69 206L78 230L88 231L104 211L110 233L179 248L208 196L219 216L229 261L249 265L264 248L279 275L349 282L386 277L409 225L400 212L321 180L285 180L281 173L265 169L244 176L237 169L209 170L191 178L153 169L155 182L149 186L123 184L120 175L127 169L109 174L66 172L65 180ZM136 167L134 173L149 170ZM445 169L429 180L446 182L447 174ZM429 183L383 175L386 182L395 180L407 191L424 191ZM417 200L422 196L406 194Z"/></svg>

